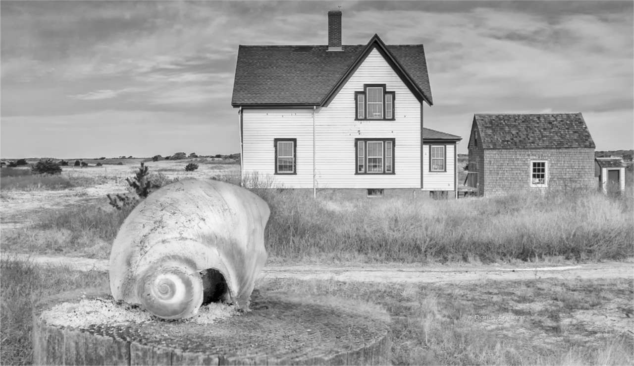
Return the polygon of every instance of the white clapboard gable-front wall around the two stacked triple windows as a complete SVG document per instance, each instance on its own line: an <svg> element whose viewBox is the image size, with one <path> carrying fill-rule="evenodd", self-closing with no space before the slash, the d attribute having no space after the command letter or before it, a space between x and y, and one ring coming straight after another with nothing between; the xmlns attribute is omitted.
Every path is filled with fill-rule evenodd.
<svg viewBox="0 0 634 366"><path fill-rule="evenodd" d="M354 92L363 84L394 91L396 121L354 121ZM330 105L316 114L317 188L420 188L421 105L374 49ZM355 138L394 138L396 174L354 174Z"/></svg>

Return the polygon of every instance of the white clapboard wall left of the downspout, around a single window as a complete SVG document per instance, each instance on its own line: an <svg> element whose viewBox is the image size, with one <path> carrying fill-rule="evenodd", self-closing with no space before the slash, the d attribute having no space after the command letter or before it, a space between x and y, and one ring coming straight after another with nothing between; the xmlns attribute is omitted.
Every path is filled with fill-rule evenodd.
<svg viewBox="0 0 634 366"><path fill-rule="evenodd" d="M277 187L313 188L313 110L244 109L242 173L257 173ZM276 138L297 139L297 174L275 174Z"/></svg>

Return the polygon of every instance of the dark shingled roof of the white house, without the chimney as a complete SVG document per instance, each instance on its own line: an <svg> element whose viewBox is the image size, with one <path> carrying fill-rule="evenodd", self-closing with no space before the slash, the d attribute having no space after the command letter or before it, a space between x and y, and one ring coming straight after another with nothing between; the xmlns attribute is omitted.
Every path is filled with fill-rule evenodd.
<svg viewBox="0 0 634 366"><path fill-rule="evenodd" d="M375 48L414 95L432 105L423 45L385 45L376 34L368 44L344 45L343 51L328 51L328 46L240 45L231 105L327 105Z"/></svg>

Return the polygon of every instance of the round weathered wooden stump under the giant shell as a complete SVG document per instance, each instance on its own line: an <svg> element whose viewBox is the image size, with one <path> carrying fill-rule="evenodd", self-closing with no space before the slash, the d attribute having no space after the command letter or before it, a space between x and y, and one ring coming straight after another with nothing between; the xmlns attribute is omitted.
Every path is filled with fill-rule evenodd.
<svg viewBox="0 0 634 366"><path fill-rule="evenodd" d="M65 292L36 305L34 365L381 365L391 362L389 315L332 297L254 292L252 311L213 324L159 320L68 327L43 311L95 291ZM46 315L46 313L44 314Z"/></svg>

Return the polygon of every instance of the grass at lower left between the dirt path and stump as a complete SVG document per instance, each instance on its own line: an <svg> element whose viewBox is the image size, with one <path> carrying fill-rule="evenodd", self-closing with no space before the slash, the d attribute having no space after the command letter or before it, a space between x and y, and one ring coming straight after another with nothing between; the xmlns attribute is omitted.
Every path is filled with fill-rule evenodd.
<svg viewBox="0 0 634 366"><path fill-rule="evenodd" d="M31 263L0 261L0 360L3 365L32 364L32 309L44 296L83 287L107 289L108 275L66 268L37 268Z"/></svg>

